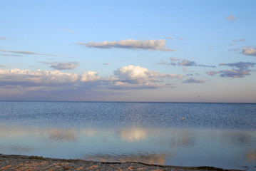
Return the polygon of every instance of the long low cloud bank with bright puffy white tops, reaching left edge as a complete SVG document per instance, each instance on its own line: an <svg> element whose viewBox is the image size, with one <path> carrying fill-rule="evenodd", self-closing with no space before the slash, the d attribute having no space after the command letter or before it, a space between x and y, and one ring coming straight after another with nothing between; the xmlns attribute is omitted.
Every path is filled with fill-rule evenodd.
<svg viewBox="0 0 256 171"><path fill-rule="evenodd" d="M113 72L113 76L102 78L95 71L85 71L78 76L76 73L63 73L61 71L31 71L20 69L0 69L0 87L53 87L65 88L95 88L95 89L143 89L160 88L166 79L183 78L173 73L160 73L148 71L140 66L122 66Z"/></svg>

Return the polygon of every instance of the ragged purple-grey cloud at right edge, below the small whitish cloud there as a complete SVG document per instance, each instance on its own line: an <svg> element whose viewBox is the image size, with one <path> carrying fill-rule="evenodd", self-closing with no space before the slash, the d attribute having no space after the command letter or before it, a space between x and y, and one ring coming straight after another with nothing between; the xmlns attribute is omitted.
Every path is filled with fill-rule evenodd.
<svg viewBox="0 0 256 171"><path fill-rule="evenodd" d="M249 68L255 67L255 65L256 63L250 62L220 63L219 66L230 66L235 68L221 71L208 71L206 73L210 76L220 73L220 77L242 78L250 75L251 70Z"/></svg>

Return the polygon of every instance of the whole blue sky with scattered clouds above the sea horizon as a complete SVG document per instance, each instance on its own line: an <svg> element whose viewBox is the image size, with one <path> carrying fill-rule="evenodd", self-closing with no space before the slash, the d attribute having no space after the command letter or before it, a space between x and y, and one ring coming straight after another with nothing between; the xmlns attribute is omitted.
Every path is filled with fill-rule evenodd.
<svg viewBox="0 0 256 171"><path fill-rule="evenodd" d="M0 0L0 100L256 103L255 6Z"/></svg>

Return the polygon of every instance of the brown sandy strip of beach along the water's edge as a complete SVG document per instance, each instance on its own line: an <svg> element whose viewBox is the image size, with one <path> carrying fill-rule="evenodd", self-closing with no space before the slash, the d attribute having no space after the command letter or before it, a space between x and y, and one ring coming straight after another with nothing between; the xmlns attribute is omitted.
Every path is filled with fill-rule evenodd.
<svg viewBox="0 0 256 171"><path fill-rule="evenodd" d="M86 160L64 160L26 155L0 155L0 170L220 171L223 169L216 167L178 167L163 165L147 165L140 162L95 162Z"/></svg>

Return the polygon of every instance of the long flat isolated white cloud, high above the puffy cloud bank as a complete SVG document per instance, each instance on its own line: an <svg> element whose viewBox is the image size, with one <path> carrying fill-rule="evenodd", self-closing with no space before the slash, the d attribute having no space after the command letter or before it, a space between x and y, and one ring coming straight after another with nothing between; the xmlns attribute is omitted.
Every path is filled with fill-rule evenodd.
<svg viewBox="0 0 256 171"><path fill-rule="evenodd" d="M151 51L175 51L170 48L165 48L165 40L121 40L121 41L103 41L100 43L96 42L88 42L81 43L77 42L82 46L86 46L88 48L127 48L133 50L151 50Z"/></svg>

